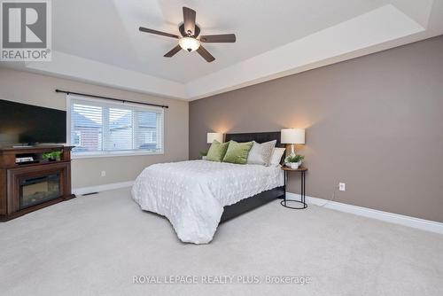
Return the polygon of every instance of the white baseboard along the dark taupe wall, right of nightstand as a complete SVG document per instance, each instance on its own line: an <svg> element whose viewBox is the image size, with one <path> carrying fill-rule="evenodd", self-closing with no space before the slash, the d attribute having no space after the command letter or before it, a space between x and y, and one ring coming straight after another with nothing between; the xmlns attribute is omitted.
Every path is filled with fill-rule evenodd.
<svg viewBox="0 0 443 296"><path fill-rule="evenodd" d="M299 194L286 193L287 199L299 200ZM443 234L443 223L430 220L424 220L420 218L410 217L403 214L392 214L388 212L373 210L368 207L346 205L337 201L328 201L326 199L317 199L313 197L306 197L307 204L315 206L323 206L340 212L346 212L350 214L357 214L368 218L373 218L385 222L392 222L419 230L426 230Z"/></svg>

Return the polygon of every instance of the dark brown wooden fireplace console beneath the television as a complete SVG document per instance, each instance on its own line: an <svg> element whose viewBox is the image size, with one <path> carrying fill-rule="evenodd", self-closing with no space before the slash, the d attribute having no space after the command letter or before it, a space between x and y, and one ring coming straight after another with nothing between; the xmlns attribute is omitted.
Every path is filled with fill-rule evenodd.
<svg viewBox="0 0 443 296"><path fill-rule="evenodd" d="M75 198L71 192L72 148L61 145L0 148L0 222ZM59 159L48 160L44 156L49 152L61 152ZM29 159L18 163L20 158ZM24 189L27 184L33 185L45 178L51 181L42 181L43 186L34 187L38 190L43 188L44 193L35 190L32 195ZM24 200L26 194L28 196Z"/></svg>

